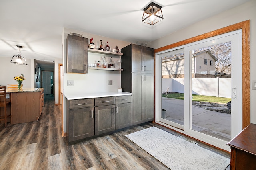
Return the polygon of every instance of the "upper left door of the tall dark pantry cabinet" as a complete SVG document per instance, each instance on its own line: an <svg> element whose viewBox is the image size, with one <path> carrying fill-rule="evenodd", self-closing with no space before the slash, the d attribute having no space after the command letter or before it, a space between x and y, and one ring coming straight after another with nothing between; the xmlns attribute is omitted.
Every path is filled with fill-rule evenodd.
<svg viewBox="0 0 256 170"><path fill-rule="evenodd" d="M143 73L144 70L144 47L132 44L132 72Z"/></svg>

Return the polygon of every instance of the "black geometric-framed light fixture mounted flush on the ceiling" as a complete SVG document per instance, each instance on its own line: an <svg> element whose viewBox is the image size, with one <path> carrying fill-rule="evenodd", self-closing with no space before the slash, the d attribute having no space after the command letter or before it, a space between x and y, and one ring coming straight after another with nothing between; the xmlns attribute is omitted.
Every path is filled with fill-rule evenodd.
<svg viewBox="0 0 256 170"><path fill-rule="evenodd" d="M164 19L162 10L162 6L151 2L146 8L144 8L144 13L142 16L142 22L148 23L150 25L154 25L158 23L162 19Z"/></svg>

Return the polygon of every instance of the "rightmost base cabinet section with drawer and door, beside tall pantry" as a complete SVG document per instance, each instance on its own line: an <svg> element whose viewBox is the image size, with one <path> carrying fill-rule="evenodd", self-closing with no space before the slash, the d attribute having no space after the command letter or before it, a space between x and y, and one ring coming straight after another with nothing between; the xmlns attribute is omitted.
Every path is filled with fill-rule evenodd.
<svg viewBox="0 0 256 170"><path fill-rule="evenodd" d="M132 126L132 96L117 96L115 103L116 130Z"/></svg>

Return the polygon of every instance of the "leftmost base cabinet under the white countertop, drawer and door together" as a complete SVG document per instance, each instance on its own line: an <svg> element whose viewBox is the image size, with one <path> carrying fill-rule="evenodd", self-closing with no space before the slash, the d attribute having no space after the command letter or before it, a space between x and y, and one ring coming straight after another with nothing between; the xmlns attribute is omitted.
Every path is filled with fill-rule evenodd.
<svg viewBox="0 0 256 170"><path fill-rule="evenodd" d="M68 100L68 142L94 136L94 99Z"/></svg>

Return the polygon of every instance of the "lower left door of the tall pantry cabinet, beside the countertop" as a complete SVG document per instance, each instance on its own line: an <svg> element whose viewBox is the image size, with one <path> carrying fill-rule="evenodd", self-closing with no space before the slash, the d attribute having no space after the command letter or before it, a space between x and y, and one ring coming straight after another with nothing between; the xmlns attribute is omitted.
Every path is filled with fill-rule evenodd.
<svg viewBox="0 0 256 170"><path fill-rule="evenodd" d="M144 122L143 81L143 74L132 73L132 125Z"/></svg>

